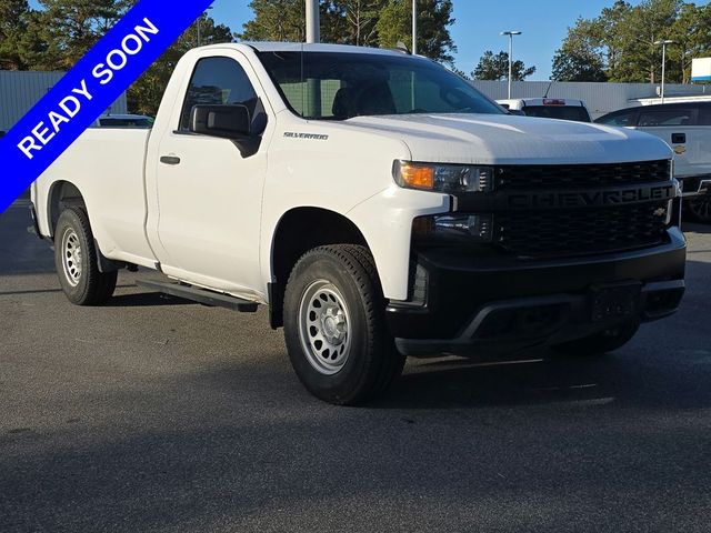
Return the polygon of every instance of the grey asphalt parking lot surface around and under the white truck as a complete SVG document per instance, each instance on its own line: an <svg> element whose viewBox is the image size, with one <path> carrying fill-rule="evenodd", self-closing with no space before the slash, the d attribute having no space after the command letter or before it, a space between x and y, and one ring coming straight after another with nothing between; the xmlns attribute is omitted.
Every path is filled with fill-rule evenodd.
<svg viewBox="0 0 711 533"><path fill-rule="evenodd" d="M0 215L0 531L709 531L711 228L683 310L597 360L409 362L368 408L298 383L266 310L72 306Z"/></svg>

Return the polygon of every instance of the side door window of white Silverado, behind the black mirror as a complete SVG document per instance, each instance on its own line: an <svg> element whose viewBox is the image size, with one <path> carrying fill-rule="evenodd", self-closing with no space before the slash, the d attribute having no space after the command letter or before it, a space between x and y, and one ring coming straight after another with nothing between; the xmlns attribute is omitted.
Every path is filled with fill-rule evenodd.
<svg viewBox="0 0 711 533"><path fill-rule="evenodd" d="M190 129L193 105L242 104L254 115L257 93L244 69L230 58L206 58L198 61L190 79L180 117L180 131Z"/></svg>

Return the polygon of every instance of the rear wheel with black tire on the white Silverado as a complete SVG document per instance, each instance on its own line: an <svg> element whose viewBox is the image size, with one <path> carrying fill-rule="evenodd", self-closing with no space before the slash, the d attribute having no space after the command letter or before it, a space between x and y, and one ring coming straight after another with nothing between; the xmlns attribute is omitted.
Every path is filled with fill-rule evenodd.
<svg viewBox="0 0 711 533"><path fill-rule="evenodd" d="M76 305L99 305L113 294L118 272L99 272L89 217L81 208L68 208L59 215L54 265L64 294Z"/></svg>

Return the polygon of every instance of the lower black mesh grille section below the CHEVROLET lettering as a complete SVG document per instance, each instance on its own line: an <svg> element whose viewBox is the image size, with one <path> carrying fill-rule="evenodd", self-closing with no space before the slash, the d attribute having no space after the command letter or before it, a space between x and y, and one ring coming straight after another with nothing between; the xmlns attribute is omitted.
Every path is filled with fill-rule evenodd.
<svg viewBox="0 0 711 533"><path fill-rule="evenodd" d="M495 242L519 258L594 254L664 242L669 202L494 214Z"/></svg>

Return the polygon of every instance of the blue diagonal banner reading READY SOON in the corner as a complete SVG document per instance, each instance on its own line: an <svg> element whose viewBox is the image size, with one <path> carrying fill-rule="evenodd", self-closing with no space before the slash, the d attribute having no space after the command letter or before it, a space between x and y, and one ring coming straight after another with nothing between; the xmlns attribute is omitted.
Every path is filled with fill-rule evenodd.
<svg viewBox="0 0 711 533"><path fill-rule="evenodd" d="M0 213L168 49L213 0L140 0L0 139Z"/></svg>

